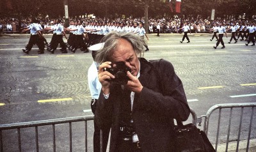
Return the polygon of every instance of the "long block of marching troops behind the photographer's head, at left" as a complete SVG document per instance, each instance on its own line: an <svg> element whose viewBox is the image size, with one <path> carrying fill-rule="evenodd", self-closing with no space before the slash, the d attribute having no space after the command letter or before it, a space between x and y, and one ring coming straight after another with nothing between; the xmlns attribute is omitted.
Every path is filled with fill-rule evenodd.
<svg viewBox="0 0 256 152"><path fill-rule="evenodd" d="M61 53L67 53L67 50L75 53L77 49L81 51L89 52L88 47L95 43L99 43L104 35L111 31L116 31L118 33L134 33L141 36L147 37L143 24L134 22L132 24L124 24L122 22L84 22L81 20L70 21L70 26L64 28L61 20L56 20L56 24L52 24L45 29L38 24L38 20L32 19L31 24L28 27L22 28L22 32L30 31L29 43L25 49L22 49L24 53L29 54L33 45L37 45L39 50L38 54L44 54L45 45L47 45L47 50L54 54L54 51L58 48L60 44ZM67 38L65 31L70 34ZM43 33L53 33L51 42L47 43L44 38ZM67 43L63 41L63 36L67 39ZM148 39L148 37L147 37ZM146 50L149 50L145 44Z"/></svg>

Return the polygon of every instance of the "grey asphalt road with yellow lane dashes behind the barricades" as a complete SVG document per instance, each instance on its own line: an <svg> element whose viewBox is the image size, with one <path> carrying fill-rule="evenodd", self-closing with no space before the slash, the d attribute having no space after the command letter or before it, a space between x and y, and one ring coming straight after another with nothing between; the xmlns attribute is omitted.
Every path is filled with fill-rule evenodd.
<svg viewBox="0 0 256 152"><path fill-rule="evenodd" d="M170 61L183 82L189 106L197 116L218 103L256 102L256 47L244 45L244 41L228 44L225 49L213 49L215 40L210 36L190 36L191 43L180 43L182 35L149 35L149 51L146 59ZM47 36L49 41L51 38ZM87 71L92 55L77 50L75 54L36 54L34 46L29 55L21 49L28 43L26 36L0 37L0 124L38 121L92 115ZM229 109L222 111L220 142L227 139ZM230 140L237 137L241 109L234 110ZM252 109L244 109L243 133L246 139ZM211 116L209 139L214 142L218 112ZM256 111L254 110L254 114ZM191 121L191 119L189 119ZM68 151L68 125L56 128L57 151ZM73 151L84 148L84 125L73 125ZM22 151L35 150L35 129L21 130ZM93 123L88 123L88 151L92 151ZM43 126L39 132L40 151L52 151L51 126ZM256 117L253 117L252 135L256 133ZM82 137L81 137L82 136ZM57 140L58 139L58 140ZM4 151L17 151L17 130L3 132Z"/></svg>

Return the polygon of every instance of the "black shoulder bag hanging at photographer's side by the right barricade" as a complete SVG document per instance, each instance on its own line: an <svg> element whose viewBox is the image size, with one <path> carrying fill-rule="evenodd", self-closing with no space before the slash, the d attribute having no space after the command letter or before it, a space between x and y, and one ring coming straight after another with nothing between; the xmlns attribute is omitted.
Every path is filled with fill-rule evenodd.
<svg viewBox="0 0 256 152"><path fill-rule="evenodd" d="M157 73L159 73L159 75L161 75L161 73L159 72L160 61L161 59L150 61L150 63L152 63L152 65L154 66L154 69L156 70ZM157 77L159 80L161 80L159 75L157 75ZM177 126L175 126L173 130L175 134L175 137L173 138L173 141L175 143L175 146L174 146L175 152L214 152L215 151L211 142L207 138L207 135L205 134L205 132L198 129L192 123L183 125L182 121L177 120Z"/></svg>

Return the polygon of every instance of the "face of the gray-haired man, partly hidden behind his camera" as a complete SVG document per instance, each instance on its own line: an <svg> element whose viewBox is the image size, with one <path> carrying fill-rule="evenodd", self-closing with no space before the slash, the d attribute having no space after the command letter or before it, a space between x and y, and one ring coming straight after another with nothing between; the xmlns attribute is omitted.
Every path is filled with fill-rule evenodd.
<svg viewBox="0 0 256 152"><path fill-rule="evenodd" d="M140 70L140 61L134 52L131 43L127 40L120 38L118 45L113 50L113 56L111 57L113 63L122 61L125 65L131 68L131 73L136 76Z"/></svg>

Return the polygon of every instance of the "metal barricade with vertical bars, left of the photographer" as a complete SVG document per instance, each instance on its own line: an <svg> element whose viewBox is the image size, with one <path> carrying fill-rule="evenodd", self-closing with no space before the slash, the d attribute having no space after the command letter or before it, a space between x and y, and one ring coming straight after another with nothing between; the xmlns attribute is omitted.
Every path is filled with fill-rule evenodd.
<svg viewBox="0 0 256 152"><path fill-rule="evenodd" d="M38 143L38 126L47 126L52 125L52 141L53 141L53 151L56 151L56 133L55 133L55 125L57 124L69 124L69 149L72 151L72 123L84 121L84 138L85 138L85 149L84 151L88 151L87 146L87 121L93 120L94 116L79 116L72 118L62 118L62 119L49 119L44 121L31 121L27 123L13 123L7 125L0 125L0 152L3 152L3 130L11 130L17 129L18 133L18 142L19 142L19 151L21 151L21 138L20 138L20 128L31 128L35 127L35 141L36 141L36 151L39 151L39 143Z"/></svg>

